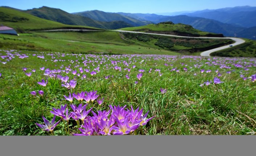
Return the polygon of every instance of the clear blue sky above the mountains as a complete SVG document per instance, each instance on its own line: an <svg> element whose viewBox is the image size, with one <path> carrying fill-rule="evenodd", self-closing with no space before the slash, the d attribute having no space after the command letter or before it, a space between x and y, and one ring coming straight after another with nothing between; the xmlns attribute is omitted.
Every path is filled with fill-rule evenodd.
<svg viewBox="0 0 256 156"><path fill-rule="evenodd" d="M104 12L165 13L250 5L256 0L1 0L0 6L32 9L47 6L66 12L101 10Z"/></svg>

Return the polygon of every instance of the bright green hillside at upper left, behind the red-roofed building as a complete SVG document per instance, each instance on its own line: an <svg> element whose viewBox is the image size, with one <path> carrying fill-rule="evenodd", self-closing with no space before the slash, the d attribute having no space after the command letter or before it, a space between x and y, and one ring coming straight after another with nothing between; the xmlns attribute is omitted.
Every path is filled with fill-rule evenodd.
<svg viewBox="0 0 256 156"><path fill-rule="evenodd" d="M46 29L46 28L60 28L60 27L81 27L81 26L73 26L73 25L66 25L50 20L45 20L28 13L20 12L14 9L8 9L4 7L0 7L0 14L3 17L6 16L7 18L1 18L0 23L12 27L14 29L22 28L25 30L30 29ZM13 18L25 18L25 20L18 20L17 22L12 22ZM6 20L7 19L7 20ZM27 20L26 20L27 19ZM92 28L92 27L84 27L84 28Z"/></svg>

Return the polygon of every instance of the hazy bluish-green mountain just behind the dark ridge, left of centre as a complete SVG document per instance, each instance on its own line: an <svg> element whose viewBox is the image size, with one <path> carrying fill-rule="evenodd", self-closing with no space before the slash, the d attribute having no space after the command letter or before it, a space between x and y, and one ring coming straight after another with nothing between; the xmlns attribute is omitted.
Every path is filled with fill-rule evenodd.
<svg viewBox="0 0 256 156"><path fill-rule="evenodd" d="M103 21L103 22L112 22L112 21L124 21L132 26L142 26L151 24L149 21L140 21L132 17L123 16L118 13L107 13L99 10L85 11L85 12L77 12L73 13L75 15L80 15L83 17L88 17L93 20Z"/></svg>

